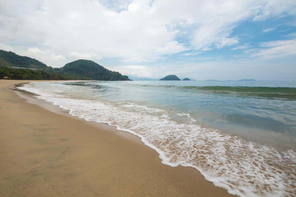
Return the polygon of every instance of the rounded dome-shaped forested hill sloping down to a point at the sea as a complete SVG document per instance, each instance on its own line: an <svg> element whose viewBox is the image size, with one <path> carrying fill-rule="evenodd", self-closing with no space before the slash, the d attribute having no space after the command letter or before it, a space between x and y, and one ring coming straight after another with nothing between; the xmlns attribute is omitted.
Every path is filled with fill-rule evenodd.
<svg viewBox="0 0 296 197"><path fill-rule="evenodd" d="M64 75L89 77L93 80L102 81L127 81L128 76L122 75L119 72L110 71L103 66L91 60L76 60L62 67L59 73Z"/></svg>

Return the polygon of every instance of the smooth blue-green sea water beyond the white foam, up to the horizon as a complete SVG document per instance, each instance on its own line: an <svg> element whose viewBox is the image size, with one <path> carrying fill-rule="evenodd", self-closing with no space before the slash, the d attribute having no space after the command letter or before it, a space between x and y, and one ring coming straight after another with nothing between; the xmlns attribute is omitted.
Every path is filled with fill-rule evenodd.
<svg viewBox="0 0 296 197"><path fill-rule="evenodd" d="M166 110L179 122L191 121L281 149L296 147L296 81L65 84L90 87L97 93L88 95L92 99L134 102Z"/></svg>

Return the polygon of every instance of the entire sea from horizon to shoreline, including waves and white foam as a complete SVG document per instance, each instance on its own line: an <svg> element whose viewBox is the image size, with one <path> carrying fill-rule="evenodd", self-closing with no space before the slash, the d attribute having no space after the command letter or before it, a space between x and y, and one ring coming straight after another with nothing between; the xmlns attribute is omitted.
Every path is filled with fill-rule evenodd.
<svg viewBox="0 0 296 197"><path fill-rule="evenodd" d="M31 82L86 121L116 126L172 167L239 196L295 196L296 81Z"/></svg>

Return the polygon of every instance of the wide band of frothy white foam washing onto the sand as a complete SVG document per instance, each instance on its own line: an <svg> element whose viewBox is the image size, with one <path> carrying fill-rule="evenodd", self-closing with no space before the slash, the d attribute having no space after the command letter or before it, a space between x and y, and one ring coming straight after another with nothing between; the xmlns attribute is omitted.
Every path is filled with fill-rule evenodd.
<svg viewBox="0 0 296 197"><path fill-rule="evenodd" d="M19 89L38 94L37 98L59 105L71 115L133 133L160 154L163 164L194 167L207 180L231 194L295 196L296 153L291 149L279 153L272 147L212 128L177 123L166 114L124 111L124 107L131 106L118 107L108 102L67 98L36 89L32 84Z"/></svg>

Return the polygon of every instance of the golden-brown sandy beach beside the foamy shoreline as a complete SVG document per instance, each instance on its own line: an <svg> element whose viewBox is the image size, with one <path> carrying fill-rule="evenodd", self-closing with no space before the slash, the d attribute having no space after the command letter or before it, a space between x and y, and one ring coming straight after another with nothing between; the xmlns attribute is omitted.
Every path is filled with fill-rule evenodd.
<svg viewBox="0 0 296 197"><path fill-rule="evenodd" d="M24 82L0 80L0 196L231 196L130 133L8 89Z"/></svg>

